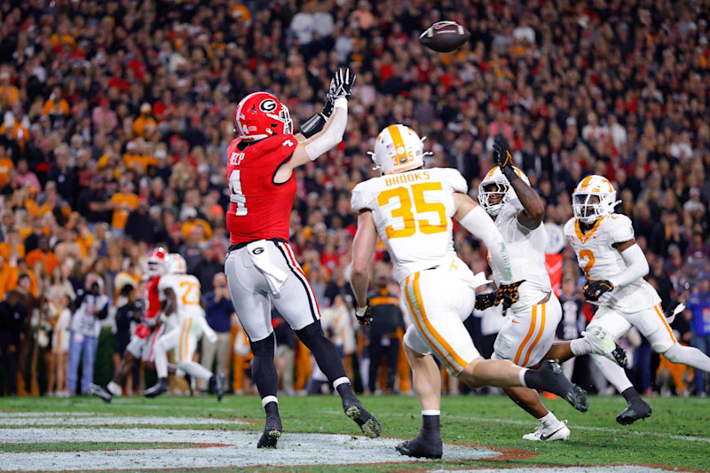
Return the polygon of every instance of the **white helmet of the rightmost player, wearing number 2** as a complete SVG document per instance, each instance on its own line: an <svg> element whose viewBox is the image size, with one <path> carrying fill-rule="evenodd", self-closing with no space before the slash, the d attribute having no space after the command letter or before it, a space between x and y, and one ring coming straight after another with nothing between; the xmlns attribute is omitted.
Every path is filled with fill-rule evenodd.
<svg viewBox="0 0 710 473"><path fill-rule="evenodd" d="M588 176L580 181L572 193L572 212L583 224L593 224L599 218L614 213L616 189L606 177Z"/></svg>

